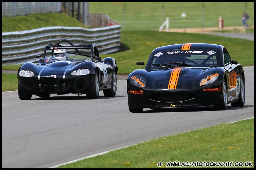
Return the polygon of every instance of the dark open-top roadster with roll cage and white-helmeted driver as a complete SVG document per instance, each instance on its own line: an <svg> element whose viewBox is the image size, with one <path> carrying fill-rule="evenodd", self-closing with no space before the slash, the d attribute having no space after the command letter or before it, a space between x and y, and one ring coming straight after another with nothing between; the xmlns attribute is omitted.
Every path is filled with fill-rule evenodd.
<svg viewBox="0 0 256 170"><path fill-rule="evenodd" d="M114 58L101 60L96 44L74 45L63 39L45 47L37 63L27 62L18 69L18 96L30 100L32 95L86 94L96 99L103 90L106 97L117 91L117 63Z"/></svg>

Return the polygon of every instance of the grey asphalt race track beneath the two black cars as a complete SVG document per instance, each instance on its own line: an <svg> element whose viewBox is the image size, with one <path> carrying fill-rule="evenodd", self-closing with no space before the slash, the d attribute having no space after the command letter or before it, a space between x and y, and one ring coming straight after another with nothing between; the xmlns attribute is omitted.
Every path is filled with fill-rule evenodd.
<svg viewBox="0 0 256 170"><path fill-rule="evenodd" d="M33 96L2 92L2 168L49 168L161 136L254 117L254 66L245 70L245 106L214 111L197 108L144 109L130 113L126 80L117 95Z"/></svg>

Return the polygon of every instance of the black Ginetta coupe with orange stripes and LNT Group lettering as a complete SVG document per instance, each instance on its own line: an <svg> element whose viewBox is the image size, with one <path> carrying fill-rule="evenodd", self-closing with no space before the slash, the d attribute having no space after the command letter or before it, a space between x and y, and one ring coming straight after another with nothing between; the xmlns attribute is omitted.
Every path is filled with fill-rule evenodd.
<svg viewBox="0 0 256 170"><path fill-rule="evenodd" d="M144 65L144 62L137 62ZM188 43L158 47L145 69L128 75L129 111L143 108L213 106L225 110L245 103L245 73L217 44Z"/></svg>

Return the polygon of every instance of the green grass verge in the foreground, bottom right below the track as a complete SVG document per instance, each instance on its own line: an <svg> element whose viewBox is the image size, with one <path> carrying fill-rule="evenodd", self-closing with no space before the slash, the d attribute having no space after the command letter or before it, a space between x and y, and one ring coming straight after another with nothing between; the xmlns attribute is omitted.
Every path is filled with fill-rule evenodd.
<svg viewBox="0 0 256 170"><path fill-rule="evenodd" d="M166 162L179 161L252 162L239 168L254 168L254 119L164 136L57 168L158 168L159 162L166 168Z"/></svg>

